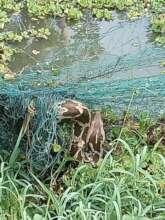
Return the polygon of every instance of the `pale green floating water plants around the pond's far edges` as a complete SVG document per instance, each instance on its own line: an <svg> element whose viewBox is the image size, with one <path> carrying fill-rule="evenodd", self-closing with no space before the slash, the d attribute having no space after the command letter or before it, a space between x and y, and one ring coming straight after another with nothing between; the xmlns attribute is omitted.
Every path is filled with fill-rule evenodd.
<svg viewBox="0 0 165 220"><path fill-rule="evenodd" d="M146 13L154 13L151 19L151 29L158 33L156 42L164 44L164 0L74 0L74 1L33 1L26 0L17 2L15 0L0 0L0 41L1 42L22 42L24 39L35 37L38 39L48 39L50 31L48 28L35 28L22 31L20 33L5 32L3 29L10 21L13 13L20 13L21 10L27 11L33 19L43 19L45 16L66 17L69 20L79 21L83 18L85 9L91 11L96 19L112 20L113 10L125 11L128 19L134 20ZM9 47L9 44L6 45ZM8 69L6 62L1 71Z"/></svg>

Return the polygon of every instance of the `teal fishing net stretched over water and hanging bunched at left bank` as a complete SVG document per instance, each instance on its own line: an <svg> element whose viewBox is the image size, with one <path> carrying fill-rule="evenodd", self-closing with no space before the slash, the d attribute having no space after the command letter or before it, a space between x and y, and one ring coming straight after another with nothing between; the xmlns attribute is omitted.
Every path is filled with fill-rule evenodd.
<svg viewBox="0 0 165 220"><path fill-rule="evenodd" d="M165 50L149 41L147 18L114 21L96 35L96 21L85 21L82 27L86 34L80 31L80 37L53 54L53 60L43 59L12 81L0 78L0 148L12 150L19 144L39 170L60 161L62 154L52 153L52 146L69 145L71 135L59 126L62 100L79 100L92 109L110 106L118 114L128 109L136 115L159 116L165 111L160 67ZM29 108L34 110L31 115Z"/></svg>

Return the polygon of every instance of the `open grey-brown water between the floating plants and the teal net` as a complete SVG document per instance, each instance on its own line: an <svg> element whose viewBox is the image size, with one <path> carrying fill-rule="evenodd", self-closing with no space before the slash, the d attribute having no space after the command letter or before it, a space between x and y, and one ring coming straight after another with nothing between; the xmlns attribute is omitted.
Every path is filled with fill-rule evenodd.
<svg viewBox="0 0 165 220"><path fill-rule="evenodd" d="M14 72L19 73L36 64L40 66L40 64L50 62L53 62L58 69L89 62L98 63L102 68L104 62L113 64L114 58L127 56L127 60L129 60L129 55L144 54L148 49L156 48L152 42L147 17L129 22L125 19L125 15L114 14L114 20L107 22L96 21L87 13L84 20L72 23L66 21L65 18L33 20L24 13L13 15L6 31L19 32L34 27L48 27L51 35L48 40L30 38L22 43L14 44L14 47L21 48L22 51L14 57L10 64L10 68ZM111 75L111 79L160 74L162 68L159 62L152 63L152 60L151 62L147 60L148 65L141 67L140 62L143 60L141 61L138 56L137 59L137 68L115 71L115 74Z"/></svg>

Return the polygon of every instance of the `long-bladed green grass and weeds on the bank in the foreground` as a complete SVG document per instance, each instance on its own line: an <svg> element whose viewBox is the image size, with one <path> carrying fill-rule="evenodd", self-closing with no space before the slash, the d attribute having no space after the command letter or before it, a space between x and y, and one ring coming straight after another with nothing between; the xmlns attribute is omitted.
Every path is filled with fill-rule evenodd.
<svg viewBox="0 0 165 220"><path fill-rule="evenodd" d="M9 155L3 153L0 219L165 219L165 149L160 127L146 115L136 126L128 115L121 126L110 112L104 118L107 153L95 167L64 158L61 169L39 177L27 161L10 167ZM155 135L152 141L151 134Z"/></svg>

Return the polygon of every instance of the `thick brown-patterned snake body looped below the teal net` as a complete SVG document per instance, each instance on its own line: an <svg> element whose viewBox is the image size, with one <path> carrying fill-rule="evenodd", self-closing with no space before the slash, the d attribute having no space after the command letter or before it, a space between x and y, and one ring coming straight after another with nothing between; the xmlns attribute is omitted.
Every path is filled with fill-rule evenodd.
<svg viewBox="0 0 165 220"><path fill-rule="evenodd" d="M92 114L82 103L66 100L59 106L60 119L74 122L70 154L77 160L96 163L103 156L105 132L100 112Z"/></svg>

